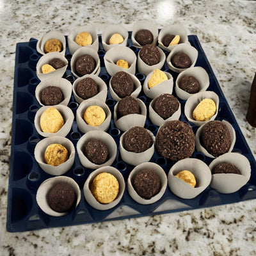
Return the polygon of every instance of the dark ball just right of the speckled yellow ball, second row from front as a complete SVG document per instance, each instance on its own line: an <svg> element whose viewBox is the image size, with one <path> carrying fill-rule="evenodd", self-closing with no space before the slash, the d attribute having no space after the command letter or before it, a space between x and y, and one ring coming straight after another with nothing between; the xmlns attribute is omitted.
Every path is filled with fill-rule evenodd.
<svg viewBox="0 0 256 256"><path fill-rule="evenodd" d="M92 139L84 146L84 155L95 164L104 164L108 160L108 147L100 140Z"/></svg>

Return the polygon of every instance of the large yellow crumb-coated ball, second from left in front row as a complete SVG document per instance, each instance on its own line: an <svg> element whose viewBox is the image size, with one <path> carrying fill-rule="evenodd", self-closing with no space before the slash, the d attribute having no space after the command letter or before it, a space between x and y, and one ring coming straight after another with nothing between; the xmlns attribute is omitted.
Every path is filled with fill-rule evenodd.
<svg viewBox="0 0 256 256"><path fill-rule="evenodd" d="M119 183L111 173L99 173L90 188L92 195L101 204L109 204L115 200L119 191Z"/></svg>

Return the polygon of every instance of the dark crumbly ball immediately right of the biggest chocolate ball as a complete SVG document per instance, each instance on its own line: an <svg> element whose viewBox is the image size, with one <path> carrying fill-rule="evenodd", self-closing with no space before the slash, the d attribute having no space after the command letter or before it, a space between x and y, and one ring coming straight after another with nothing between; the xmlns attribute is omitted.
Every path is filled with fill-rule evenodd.
<svg viewBox="0 0 256 256"><path fill-rule="evenodd" d="M227 153L231 146L228 127L223 122L216 120L209 121L202 127L200 141L212 156Z"/></svg>

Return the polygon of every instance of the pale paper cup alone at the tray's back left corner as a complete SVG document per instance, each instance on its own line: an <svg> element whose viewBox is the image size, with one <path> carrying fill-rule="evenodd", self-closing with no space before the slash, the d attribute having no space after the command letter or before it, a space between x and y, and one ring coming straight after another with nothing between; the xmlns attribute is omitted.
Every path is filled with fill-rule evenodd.
<svg viewBox="0 0 256 256"><path fill-rule="evenodd" d="M46 33L45 35L41 36L41 38L38 40L36 44L36 51L40 54L44 55L44 45L45 43L50 39L58 39L60 40L63 50L60 52L62 55L65 55L66 52L66 39L65 36L62 35L59 31L50 31Z"/></svg>

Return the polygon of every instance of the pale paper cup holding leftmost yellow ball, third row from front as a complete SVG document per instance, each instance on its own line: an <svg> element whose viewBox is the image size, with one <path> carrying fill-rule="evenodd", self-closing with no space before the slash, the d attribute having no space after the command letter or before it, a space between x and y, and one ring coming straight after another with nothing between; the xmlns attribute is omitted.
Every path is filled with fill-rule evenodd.
<svg viewBox="0 0 256 256"><path fill-rule="evenodd" d="M47 108L56 108L60 113L61 116L64 119L64 125L63 127L61 127L61 129L58 132L52 133L52 132L43 132L40 126L40 117L42 115L42 113L44 113L44 111ZM72 112L72 110L70 108L68 108L68 106L64 106L61 104L55 105L55 106L42 106L40 109L38 109L38 111L36 111L36 115L35 115L35 128L36 131L43 137L51 137L51 136L67 136L68 132L70 131L72 124L74 121L74 114Z"/></svg>

